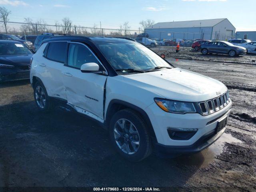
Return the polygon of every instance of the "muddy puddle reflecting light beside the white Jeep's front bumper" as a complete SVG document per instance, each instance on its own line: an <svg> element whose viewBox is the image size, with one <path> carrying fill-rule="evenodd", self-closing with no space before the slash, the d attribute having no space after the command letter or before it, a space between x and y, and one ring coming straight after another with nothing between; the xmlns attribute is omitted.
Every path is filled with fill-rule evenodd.
<svg viewBox="0 0 256 192"><path fill-rule="evenodd" d="M179 156L174 159L178 164L185 166L206 167L209 163L216 160L216 156L221 154L225 149L225 142L227 143L242 143L241 140L234 138L231 134L224 133L214 144L203 150L200 153Z"/></svg>

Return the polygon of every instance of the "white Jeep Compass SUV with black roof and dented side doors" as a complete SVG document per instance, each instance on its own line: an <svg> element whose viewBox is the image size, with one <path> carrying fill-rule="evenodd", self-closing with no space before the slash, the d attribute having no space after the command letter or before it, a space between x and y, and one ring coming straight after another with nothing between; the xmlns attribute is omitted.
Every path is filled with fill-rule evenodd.
<svg viewBox="0 0 256 192"><path fill-rule="evenodd" d="M200 152L226 129L232 102L224 84L175 68L132 39L53 37L31 62L39 110L64 104L97 120L128 160L153 149L170 156Z"/></svg>

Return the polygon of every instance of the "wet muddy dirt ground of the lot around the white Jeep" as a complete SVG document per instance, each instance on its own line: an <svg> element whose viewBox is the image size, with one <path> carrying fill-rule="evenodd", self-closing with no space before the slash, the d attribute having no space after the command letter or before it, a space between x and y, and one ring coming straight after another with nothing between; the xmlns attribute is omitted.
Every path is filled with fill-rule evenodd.
<svg viewBox="0 0 256 192"><path fill-rule="evenodd" d="M230 90L233 110L226 132L208 149L174 159L153 154L142 162L127 162L96 122L61 108L43 114L36 108L28 80L8 82L0 84L0 186L255 191L256 65L170 62L216 78Z"/></svg>

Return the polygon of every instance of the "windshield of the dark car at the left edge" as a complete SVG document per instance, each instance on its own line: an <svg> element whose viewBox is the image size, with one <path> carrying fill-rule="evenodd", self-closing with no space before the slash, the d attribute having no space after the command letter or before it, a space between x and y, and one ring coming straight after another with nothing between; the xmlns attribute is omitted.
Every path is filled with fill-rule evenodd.
<svg viewBox="0 0 256 192"><path fill-rule="evenodd" d="M32 54L28 48L20 43L0 43L0 55Z"/></svg>

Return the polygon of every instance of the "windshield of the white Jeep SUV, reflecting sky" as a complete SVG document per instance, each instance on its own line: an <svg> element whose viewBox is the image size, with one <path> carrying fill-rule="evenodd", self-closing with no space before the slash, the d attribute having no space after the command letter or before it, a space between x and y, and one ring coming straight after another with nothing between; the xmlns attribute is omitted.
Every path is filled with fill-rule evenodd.
<svg viewBox="0 0 256 192"><path fill-rule="evenodd" d="M101 42L98 47L115 70L172 67L156 53L137 42Z"/></svg>

